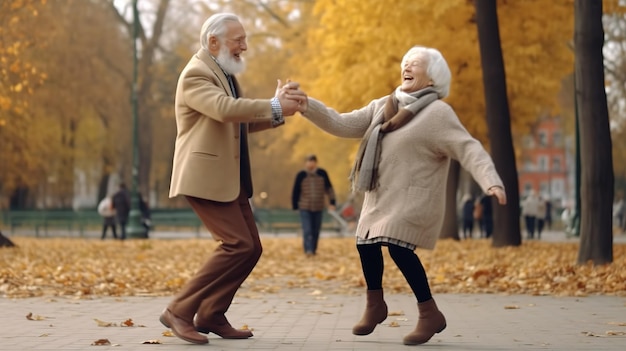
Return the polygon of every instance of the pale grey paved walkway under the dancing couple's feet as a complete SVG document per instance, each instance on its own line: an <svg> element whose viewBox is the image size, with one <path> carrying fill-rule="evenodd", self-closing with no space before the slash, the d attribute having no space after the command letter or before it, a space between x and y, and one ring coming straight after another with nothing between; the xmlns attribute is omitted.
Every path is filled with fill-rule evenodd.
<svg viewBox="0 0 626 351"><path fill-rule="evenodd" d="M241 295L246 295L245 287ZM626 298L590 296L436 296L448 328L419 347L431 350L624 350ZM373 334L357 337L362 296L287 290L235 298L228 317L247 325L254 337L225 340L209 335L209 345L163 336L158 316L166 297L0 299L2 350L402 350L415 326L413 297L386 297L390 314ZM26 318L32 313L34 319ZM132 319L136 326L121 327ZM95 320L118 326L101 327ZM137 326L141 325L141 326ZM90 346L108 339L114 346ZM142 344L159 340L163 345Z"/></svg>

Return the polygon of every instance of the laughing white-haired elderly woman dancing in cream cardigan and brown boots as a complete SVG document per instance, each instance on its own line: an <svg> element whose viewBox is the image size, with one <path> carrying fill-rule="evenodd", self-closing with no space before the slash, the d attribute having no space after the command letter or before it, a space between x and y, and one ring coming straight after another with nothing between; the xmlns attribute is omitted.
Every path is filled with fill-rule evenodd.
<svg viewBox="0 0 626 351"><path fill-rule="evenodd" d="M401 85L361 109L338 113L309 98L300 112L328 133L361 138L351 179L354 190L365 192L356 246L367 302L352 332L370 334L387 318L382 288L386 246L417 298L417 326L404 338L404 344L417 345L446 328L415 249L433 249L437 241L450 160L458 160L500 204L506 203L506 195L489 154L440 100L450 87L450 69L441 53L413 47L400 69Z"/></svg>

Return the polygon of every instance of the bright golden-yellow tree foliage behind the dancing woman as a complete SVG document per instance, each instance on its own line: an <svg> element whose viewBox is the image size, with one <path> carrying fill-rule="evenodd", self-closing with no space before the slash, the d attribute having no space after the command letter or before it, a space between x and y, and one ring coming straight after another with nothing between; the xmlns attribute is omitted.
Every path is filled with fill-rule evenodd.
<svg viewBox="0 0 626 351"><path fill-rule="evenodd" d="M541 10L538 10L541 9ZM307 48L293 57L294 77L310 96L338 111L364 106L400 83L400 61L413 45L439 49L452 71L447 101L472 135L487 143L475 10L466 0L400 0L393 4L318 0ZM523 132L542 111L554 111L561 79L573 69L573 1L499 1L498 15L514 131ZM294 156L308 152L327 160L330 174L348 186L357 142L337 140L302 119Z"/></svg>

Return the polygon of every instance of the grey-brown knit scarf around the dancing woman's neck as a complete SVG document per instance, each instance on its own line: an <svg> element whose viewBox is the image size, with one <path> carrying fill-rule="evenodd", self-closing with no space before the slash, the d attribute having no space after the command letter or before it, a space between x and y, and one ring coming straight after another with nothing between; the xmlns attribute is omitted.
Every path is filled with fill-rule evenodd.
<svg viewBox="0 0 626 351"><path fill-rule="evenodd" d="M382 113L374 117L374 123L367 129L359 145L350 172L353 191L376 189L383 136L409 123L424 107L437 99L437 92L432 87L410 94L403 93L398 87L389 95ZM402 107L398 108L399 104Z"/></svg>

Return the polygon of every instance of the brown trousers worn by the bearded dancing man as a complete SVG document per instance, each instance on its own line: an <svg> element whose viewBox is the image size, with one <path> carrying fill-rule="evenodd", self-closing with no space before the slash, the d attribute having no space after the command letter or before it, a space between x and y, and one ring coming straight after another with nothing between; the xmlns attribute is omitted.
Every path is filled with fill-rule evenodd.
<svg viewBox="0 0 626 351"><path fill-rule="evenodd" d="M186 321L193 321L197 314L201 324L223 324L237 289L261 257L259 232L244 192L232 202L186 198L220 245L169 308Z"/></svg>

